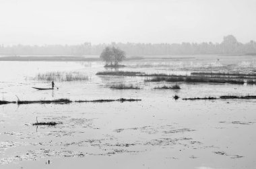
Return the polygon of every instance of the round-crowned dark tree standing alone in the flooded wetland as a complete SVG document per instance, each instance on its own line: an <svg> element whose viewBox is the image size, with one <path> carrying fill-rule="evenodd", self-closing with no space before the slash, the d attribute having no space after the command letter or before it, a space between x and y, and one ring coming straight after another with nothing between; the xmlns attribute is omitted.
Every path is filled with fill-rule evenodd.
<svg viewBox="0 0 256 169"><path fill-rule="evenodd" d="M125 59L125 52L115 47L106 47L100 54L100 58L106 62L105 66L118 66Z"/></svg>

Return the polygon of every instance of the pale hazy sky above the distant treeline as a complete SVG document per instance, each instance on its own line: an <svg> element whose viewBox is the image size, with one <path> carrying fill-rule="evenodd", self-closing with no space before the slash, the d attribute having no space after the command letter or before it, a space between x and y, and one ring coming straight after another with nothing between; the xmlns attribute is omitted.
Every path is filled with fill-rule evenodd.
<svg viewBox="0 0 256 169"><path fill-rule="evenodd" d="M0 44L256 40L256 0L0 0Z"/></svg>

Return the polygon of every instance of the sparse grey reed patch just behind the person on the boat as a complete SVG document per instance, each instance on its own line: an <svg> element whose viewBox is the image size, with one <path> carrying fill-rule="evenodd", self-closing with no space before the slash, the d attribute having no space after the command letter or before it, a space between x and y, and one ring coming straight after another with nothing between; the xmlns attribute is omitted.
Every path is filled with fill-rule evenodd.
<svg viewBox="0 0 256 169"><path fill-rule="evenodd" d="M42 81L59 81L59 82L72 82L72 81L86 81L89 80L88 76L80 72L46 72L38 73L33 80Z"/></svg>

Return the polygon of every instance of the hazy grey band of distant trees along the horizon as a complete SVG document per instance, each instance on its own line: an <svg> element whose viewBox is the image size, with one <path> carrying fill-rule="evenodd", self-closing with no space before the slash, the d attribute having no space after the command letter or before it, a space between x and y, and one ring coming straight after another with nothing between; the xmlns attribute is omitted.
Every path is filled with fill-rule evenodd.
<svg viewBox="0 0 256 169"><path fill-rule="evenodd" d="M202 42L182 44L141 44L115 43L79 45L44 45L44 46L0 46L3 55L100 55L106 46L115 46L124 50L128 56L141 55L174 55L174 54L255 54L256 42L246 44L238 42L232 35L224 36L221 43Z"/></svg>

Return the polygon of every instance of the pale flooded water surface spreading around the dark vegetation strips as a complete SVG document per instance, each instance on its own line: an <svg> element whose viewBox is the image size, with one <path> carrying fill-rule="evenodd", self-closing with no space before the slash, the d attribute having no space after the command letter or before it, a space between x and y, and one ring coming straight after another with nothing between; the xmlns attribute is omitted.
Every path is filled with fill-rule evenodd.
<svg viewBox="0 0 256 169"><path fill-rule="evenodd" d="M226 58L228 59L228 58ZM199 61L198 61L199 60ZM124 63L124 70L176 72L193 70L256 70L248 60L154 59ZM192 63L191 63L192 62ZM89 64L90 63L90 64ZM156 90L172 82L145 82L143 77L96 76L100 62L0 62L12 68L1 80L7 101L97 100L133 98L135 102L0 105L0 168L254 168L256 100L174 100L181 98L255 95L255 86L179 83L180 90ZM49 65L51 68L49 68ZM139 64L139 65L138 65ZM21 65L27 69L15 70ZM188 65L191 65L188 67ZM246 65L246 66L244 66ZM59 82L59 90L36 91L46 82L28 80L38 72L80 71L86 82ZM33 72L34 70L34 72ZM16 72L15 72L16 71ZM51 70L52 71L52 70ZM18 75L16 75L18 74ZM133 84L139 90L113 90ZM55 121L56 125L33 125Z"/></svg>

